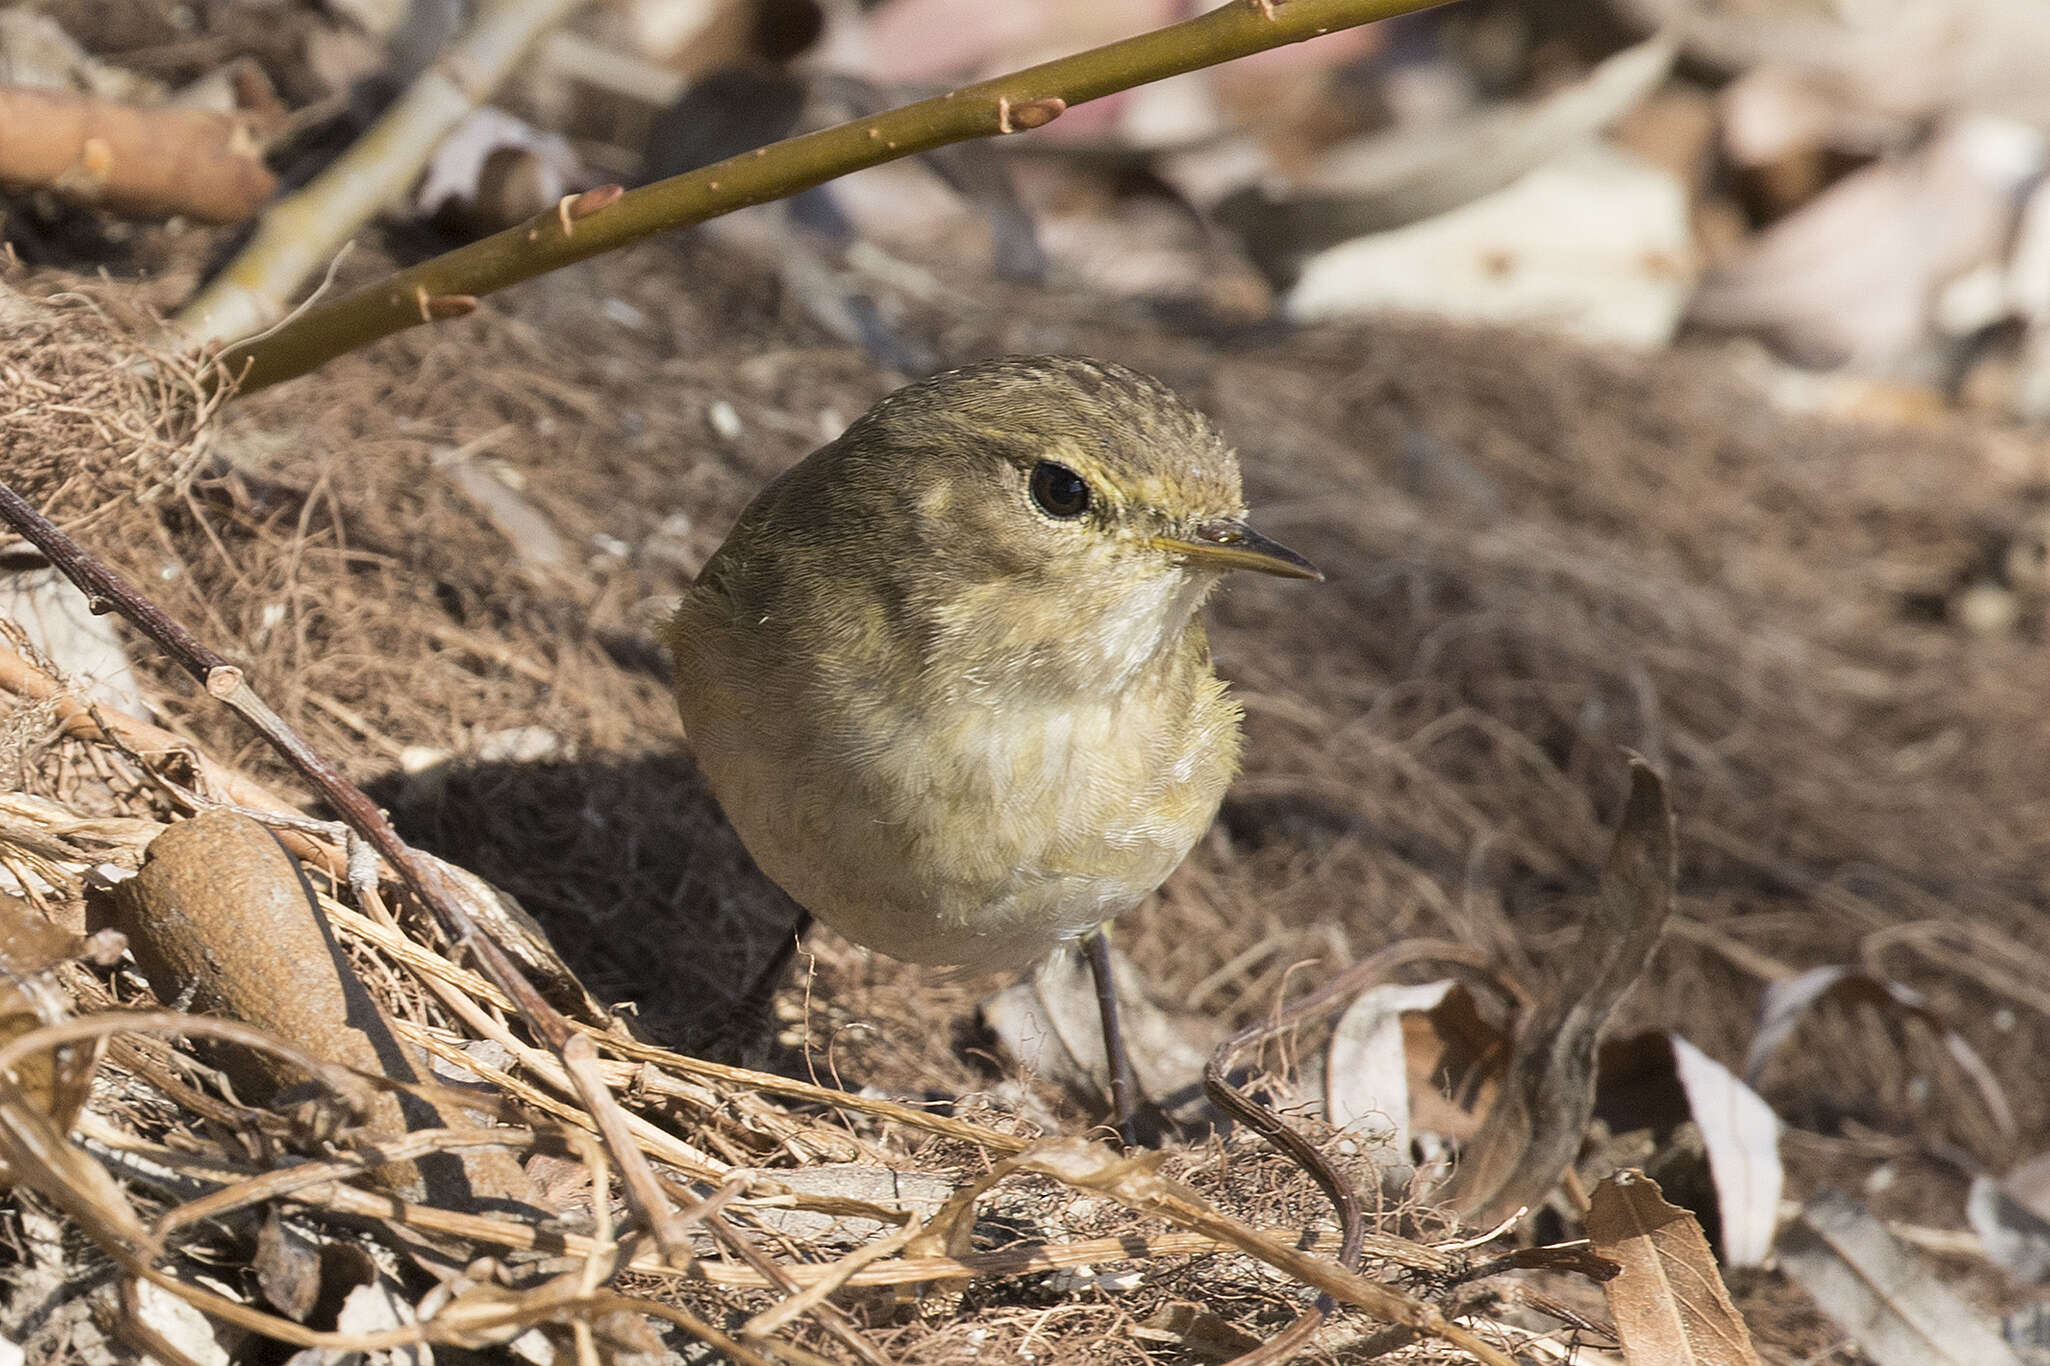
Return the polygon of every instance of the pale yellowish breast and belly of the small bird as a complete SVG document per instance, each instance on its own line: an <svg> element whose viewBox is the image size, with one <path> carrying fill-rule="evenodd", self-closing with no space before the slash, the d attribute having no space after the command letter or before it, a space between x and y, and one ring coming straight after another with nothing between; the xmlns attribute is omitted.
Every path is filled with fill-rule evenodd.
<svg viewBox="0 0 2050 1366"><path fill-rule="evenodd" d="M845 689L824 708L711 689L685 724L756 863L818 919L892 958L1000 968L1138 905L1216 816L1236 706L1207 667L1138 691L902 716Z"/></svg>

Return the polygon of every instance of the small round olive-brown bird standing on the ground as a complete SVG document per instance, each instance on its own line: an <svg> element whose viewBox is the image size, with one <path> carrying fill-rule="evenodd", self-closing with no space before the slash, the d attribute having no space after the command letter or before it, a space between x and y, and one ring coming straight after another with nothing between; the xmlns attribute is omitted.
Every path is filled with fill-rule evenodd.
<svg viewBox="0 0 2050 1366"><path fill-rule="evenodd" d="M1238 461L1158 379L1080 357L904 388L748 505L668 626L676 701L754 861L849 939L1027 966L1218 812L1240 710L1199 607L1320 578L1244 523Z"/></svg>

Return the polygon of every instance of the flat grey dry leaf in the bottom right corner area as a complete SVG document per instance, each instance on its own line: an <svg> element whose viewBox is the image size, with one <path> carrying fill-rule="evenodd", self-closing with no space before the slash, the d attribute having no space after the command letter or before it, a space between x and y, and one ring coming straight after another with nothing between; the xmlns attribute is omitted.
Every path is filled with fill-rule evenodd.
<svg viewBox="0 0 2050 1366"><path fill-rule="evenodd" d="M2021 1366L1984 1315L1845 1196L1816 1196L1781 1229L1779 1265L1878 1366Z"/></svg>

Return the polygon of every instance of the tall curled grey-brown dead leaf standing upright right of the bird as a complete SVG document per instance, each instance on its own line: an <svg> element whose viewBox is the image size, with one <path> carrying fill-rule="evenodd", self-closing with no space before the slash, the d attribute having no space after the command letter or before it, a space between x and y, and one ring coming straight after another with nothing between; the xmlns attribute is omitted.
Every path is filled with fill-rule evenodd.
<svg viewBox="0 0 2050 1366"><path fill-rule="evenodd" d="M1595 1044L1658 943L1673 882L1673 808L1632 755L1630 800L1572 954L1578 970L1517 1030L1509 1081L1443 1192L1474 1222L1544 1200L1581 1151L1595 1112Z"/></svg>

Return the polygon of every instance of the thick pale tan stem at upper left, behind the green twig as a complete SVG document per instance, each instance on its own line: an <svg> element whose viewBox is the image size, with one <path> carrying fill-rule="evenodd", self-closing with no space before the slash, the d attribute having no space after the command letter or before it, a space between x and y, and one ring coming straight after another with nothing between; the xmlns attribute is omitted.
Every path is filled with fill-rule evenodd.
<svg viewBox="0 0 2050 1366"><path fill-rule="evenodd" d="M420 176L441 139L492 96L537 37L582 0L492 0L476 23L297 195L273 203L256 236L178 314L199 340L269 326L373 213Z"/></svg>

